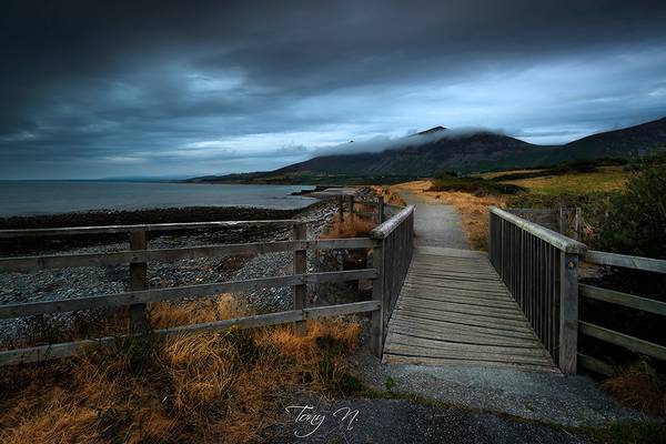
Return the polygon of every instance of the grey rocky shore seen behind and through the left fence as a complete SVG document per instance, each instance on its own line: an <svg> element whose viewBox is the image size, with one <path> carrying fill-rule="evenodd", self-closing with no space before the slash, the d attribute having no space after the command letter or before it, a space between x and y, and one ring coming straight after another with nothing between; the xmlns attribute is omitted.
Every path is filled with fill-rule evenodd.
<svg viewBox="0 0 666 444"><path fill-rule="evenodd" d="M206 220L266 220L296 219L307 221L307 238L317 238L330 224L336 206L334 202L319 202L301 211L262 209L183 209L147 210L140 212L112 212L109 219L100 213L79 213L56 216L19 218L0 221L2 228L99 225L155 222L190 222ZM147 216L143 219L143 216ZM18 223L20 222L20 223ZM39 224L38 224L39 223ZM202 230L193 232L158 233L150 238L150 249L168 249L205 244L245 243L289 240L287 226L250 226L223 230ZM115 239L30 240L21 244L4 243L2 256L27 254L77 254L112 252L129 249L127 235ZM81 239L83 238L83 239ZM99 236L97 236L99 238ZM21 248L19 250L19 248ZM28 252L28 253L26 253ZM251 258L226 256L219 259L194 259L164 263L149 263L150 287L170 287L194 285L211 282L244 280L270 275L285 275L292 272L291 252L261 254ZM321 258L309 252L311 271L320 269ZM129 287L129 266L88 266L75 269L44 270L33 273L0 273L0 304L14 304L36 301L81 297L122 293ZM313 289L310 289L313 291ZM252 291L238 295L254 312L289 310L292 307L290 287L276 287ZM64 315L67 317L67 315ZM56 316L58 317L58 316ZM60 316L62 317L62 316ZM29 320L28 320L29 321ZM0 337L14 336L24 331L26 320L0 322Z"/></svg>

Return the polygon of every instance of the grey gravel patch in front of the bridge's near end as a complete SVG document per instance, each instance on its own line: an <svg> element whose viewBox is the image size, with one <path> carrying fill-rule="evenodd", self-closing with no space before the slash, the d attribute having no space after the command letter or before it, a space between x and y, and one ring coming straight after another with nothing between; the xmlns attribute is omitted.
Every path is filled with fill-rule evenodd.
<svg viewBox="0 0 666 444"><path fill-rule="evenodd" d="M352 372L367 385L416 394L447 404L493 411L571 426L602 426L615 420L645 418L596 389L579 374L472 366L383 364L367 351L352 360Z"/></svg>

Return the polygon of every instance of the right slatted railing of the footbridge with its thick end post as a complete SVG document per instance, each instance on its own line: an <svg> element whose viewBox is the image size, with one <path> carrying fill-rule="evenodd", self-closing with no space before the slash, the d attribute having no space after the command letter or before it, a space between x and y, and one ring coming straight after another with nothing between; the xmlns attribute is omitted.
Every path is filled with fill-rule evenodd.
<svg viewBox="0 0 666 444"><path fill-rule="evenodd" d="M497 208L488 255L534 332L564 373L576 372L578 262L586 246Z"/></svg>

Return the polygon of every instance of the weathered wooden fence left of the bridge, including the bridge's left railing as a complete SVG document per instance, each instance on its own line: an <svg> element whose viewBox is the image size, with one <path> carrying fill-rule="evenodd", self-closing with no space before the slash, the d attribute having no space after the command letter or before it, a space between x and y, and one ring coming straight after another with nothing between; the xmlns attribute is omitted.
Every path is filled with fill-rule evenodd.
<svg viewBox="0 0 666 444"><path fill-rule="evenodd" d="M383 205L382 205L383 206ZM380 206L380 209L382 209ZM270 313L246 316L233 320L216 321L204 324L193 324L173 329L151 331L151 334L164 335L173 333L194 333L210 330L224 330L231 325L242 329L275 325L315 319L320 316L372 313L373 325L373 350L380 355L383 344L383 301L392 301L393 292L397 285L395 276L403 276L405 268L404 259L395 261L395 248L411 249L406 230L412 232L413 208L407 209L394 218L389 219L373 231L371 238L355 239L306 239L305 223L293 220L280 221L234 221L234 222L202 222L202 223L169 223L147 225L112 225L112 226L85 226L63 229L39 229L39 230L2 230L0 238L17 236L58 236L91 233L129 233L129 251L109 253L62 254L40 255L29 258L4 258L0 259L0 272L34 272L46 269L62 269L78 266L109 266L128 264L130 266L130 291L118 294L105 294L95 296L83 296L75 299L41 301L20 304L0 305L0 319L16 319L32 315L54 314L79 310L94 310L104 307L130 307L130 332L119 333L117 336L81 340L69 343L48 344L29 349L10 350L0 352L0 365L12 365L29 362L46 361L71 356L81 347L92 344L109 344L119 337L129 337L148 332L145 320L147 304L159 301L178 301L185 297L199 297L223 292L239 292L256 289L292 286L294 294L294 310L279 313ZM382 219L382 218L380 218ZM159 249L151 250L147 243L147 232L193 230L210 228L235 228L254 224L273 224L292 226L293 239L290 241L256 242L243 244L203 245L192 248ZM315 272L310 273L306 264L307 250L334 250L334 249L373 249L374 268L365 270ZM149 289L147 279L148 262L165 262L196 258L222 258L239 254L263 254L274 252L293 252L293 274L282 276L266 276L242 281L214 282L198 285L175 286L168 289ZM384 255L389 255L385 261ZM387 263L389 268L383 269ZM408 261L407 261L408 265ZM396 269L394 270L393 266ZM337 304L331 306L306 307L306 284L321 284L330 282L345 282L357 280L373 280L373 300ZM387 295L383 292L387 289Z"/></svg>

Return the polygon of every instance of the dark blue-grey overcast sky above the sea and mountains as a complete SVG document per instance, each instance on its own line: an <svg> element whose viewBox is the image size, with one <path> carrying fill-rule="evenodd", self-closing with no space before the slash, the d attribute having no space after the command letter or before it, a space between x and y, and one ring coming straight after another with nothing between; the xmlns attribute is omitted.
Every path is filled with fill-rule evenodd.
<svg viewBox="0 0 666 444"><path fill-rule="evenodd" d="M664 0L150 3L1 3L0 179L271 170L435 125L562 143L666 115Z"/></svg>

